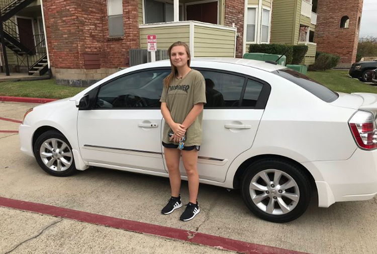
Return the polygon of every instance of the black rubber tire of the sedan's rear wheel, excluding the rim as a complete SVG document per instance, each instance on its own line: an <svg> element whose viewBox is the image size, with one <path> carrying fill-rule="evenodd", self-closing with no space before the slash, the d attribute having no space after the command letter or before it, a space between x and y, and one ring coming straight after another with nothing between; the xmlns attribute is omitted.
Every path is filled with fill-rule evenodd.
<svg viewBox="0 0 377 254"><path fill-rule="evenodd" d="M256 179L258 179L258 177L256 176L258 173L262 172L262 171L265 171L265 170L277 170L279 172L283 172L285 174L287 174L289 177L291 177L297 184L297 187L298 187L298 190L299 190L299 200L298 202L293 202L290 204L290 205L295 205L293 210L290 211L290 212L287 212L287 213L283 213L283 214L280 214L280 215L275 215L275 214L270 214L270 213L267 213L266 211L263 211L261 208L259 208L257 205L254 204L252 198L251 198L251 194L250 194L250 183L251 181L253 180L254 177L256 177ZM269 179L271 179L271 174L273 173L268 173L268 177ZM286 175L283 175L283 176L286 176ZM280 187L280 184L281 186L284 185L284 180L288 178L286 177L282 177L280 181L283 181L283 182L280 182L279 183L279 187ZM255 181L255 179L254 179ZM257 182L258 184L260 182ZM261 184L262 185L262 184ZM276 186L276 189L279 189L279 187ZM294 187L292 187L294 188ZM273 189L275 190L275 189ZM284 192L282 191L282 193L289 193L291 192L292 189L287 189L287 192L286 190L284 190ZM294 188L294 190L296 190L296 188ZM297 191L297 190L296 190ZM310 181L309 179L303 174L302 170L297 167L295 164L291 163L291 162L288 162L288 161L285 161L285 160L280 160L280 159L265 159L265 160L259 160L259 161L256 161L255 163L251 164L247 170L245 171L244 175L243 175L243 179L242 179L242 197L243 197L243 200L246 204L246 206L250 209L250 211L255 214L256 216L258 216L259 218L263 219L263 220L267 220L267 221L271 221L271 222L276 222L276 223L285 223L285 222L289 222L289 221L292 221L292 220L295 220L297 218L299 218L305 211L306 209L308 208L309 206L309 203L310 203L310 199L311 199L311 185L310 185ZM255 193L258 192L260 194L263 194L263 195L266 195L266 193L264 192L259 192L259 191L255 191ZM276 198L275 200L276 201L279 201L281 202L280 200L282 199L278 199L277 196L279 196L280 194L277 193L277 191L275 190L274 193L276 194L272 194L273 192L270 190L270 193L269 193L269 196L271 195L276 195ZM269 202L271 198L267 197L263 200L263 202ZM286 199L284 197L285 200L289 200L289 199ZM274 201L272 199L272 201ZM260 202L258 203L259 205L264 205L264 204L261 204L263 202ZM265 204L266 208L267 208L267 204ZM276 208L276 206L278 207L281 207L278 202L274 202L273 203L273 207ZM282 211L282 209L280 208L280 210ZM275 211L275 209L274 209ZM276 209L276 211L279 211L278 208Z"/></svg>

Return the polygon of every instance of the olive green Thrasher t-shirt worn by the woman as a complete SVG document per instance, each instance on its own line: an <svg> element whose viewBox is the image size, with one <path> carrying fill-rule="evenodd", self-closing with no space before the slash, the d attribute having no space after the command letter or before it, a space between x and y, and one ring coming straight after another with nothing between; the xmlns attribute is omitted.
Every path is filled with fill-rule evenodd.
<svg viewBox="0 0 377 254"><path fill-rule="evenodd" d="M206 104L206 83L203 75L197 70L190 70L183 78L173 77L168 88L164 86L160 102L165 102L170 111L171 118L175 123L182 124L186 116L193 109L195 104ZM186 130L185 146L201 145L203 132L203 111ZM168 132L172 131L165 122L162 141L169 141ZM174 143L178 144L178 143Z"/></svg>

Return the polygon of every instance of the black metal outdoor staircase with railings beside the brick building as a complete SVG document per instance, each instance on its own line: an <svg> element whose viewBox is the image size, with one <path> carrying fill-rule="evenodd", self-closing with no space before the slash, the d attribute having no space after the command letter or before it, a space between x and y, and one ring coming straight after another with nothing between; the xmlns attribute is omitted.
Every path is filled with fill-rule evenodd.
<svg viewBox="0 0 377 254"><path fill-rule="evenodd" d="M14 21L10 20L33 1L0 0L0 22L3 27L2 43L16 53L18 66L27 66L29 75L43 75L48 71L44 35L28 34L18 27ZM22 32L22 38L19 32Z"/></svg>

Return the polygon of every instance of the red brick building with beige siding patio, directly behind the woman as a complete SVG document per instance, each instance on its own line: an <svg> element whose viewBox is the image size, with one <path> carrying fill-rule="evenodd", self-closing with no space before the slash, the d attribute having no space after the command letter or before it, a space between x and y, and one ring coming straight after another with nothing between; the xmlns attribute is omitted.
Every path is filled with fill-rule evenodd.
<svg viewBox="0 0 377 254"><path fill-rule="evenodd" d="M58 83L87 86L130 66L130 49L146 49L148 34L158 49L180 40L192 57L242 57L249 43L269 43L271 8L272 0L2 0L3 52L13 71L50 69Z"/></svg>

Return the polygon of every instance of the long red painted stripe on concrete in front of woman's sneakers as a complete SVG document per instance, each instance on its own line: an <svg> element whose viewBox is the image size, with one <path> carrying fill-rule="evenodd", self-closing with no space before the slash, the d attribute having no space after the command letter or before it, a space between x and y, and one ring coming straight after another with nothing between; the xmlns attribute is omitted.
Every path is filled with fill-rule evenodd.
<svg viewBox="0 0 377 254"><path fill-rule="evenodd" d="M153 225L144 222L114 218L110 216L87 213L57 206L44 205L39 203L8 199L0 197L0 206L21 209L31 212L48 214L61 218L68 218L82 222L88 222L97 225L109 226L114 228L125 229L128 231L153 234L163 237L169 237L182 241L189 241L202 245L217 247L220 249L228 249L242 253L278 253L278 254L298 254L294 250L276 248L255 243L233 240L230 238L203 234L197 232L186 231L177 228Z"/></svg>

